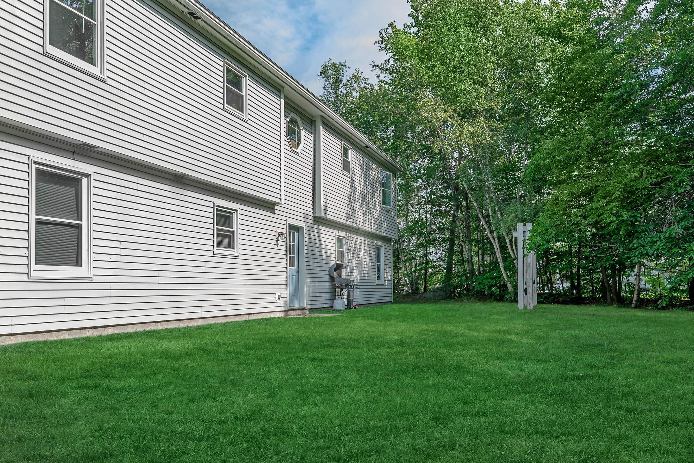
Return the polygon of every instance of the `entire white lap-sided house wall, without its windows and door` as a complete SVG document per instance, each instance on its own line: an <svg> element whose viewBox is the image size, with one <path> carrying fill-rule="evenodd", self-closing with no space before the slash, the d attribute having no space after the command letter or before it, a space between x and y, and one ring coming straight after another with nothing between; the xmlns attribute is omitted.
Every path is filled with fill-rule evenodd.
<svg viewBox="0 0 694 463"><path fill-rule="evenodd" d="M350 140L323 126L330 191L316 217L316 120L251 65L159 3L108 0L100 79L43 53L42 1L3 1L0 12L0 335L286 314L276 234L288 226L303 231L302 307L332 306L337 235L357 303L392 301L396 222L394 207L380 208L382 167L355 149L353 177L336 176ZM225 61L248 74L247 119L223 108ZM30 277L31 160L92 174L90 278ZM239 212L238 255L214 252L214 204Z"/></svg>

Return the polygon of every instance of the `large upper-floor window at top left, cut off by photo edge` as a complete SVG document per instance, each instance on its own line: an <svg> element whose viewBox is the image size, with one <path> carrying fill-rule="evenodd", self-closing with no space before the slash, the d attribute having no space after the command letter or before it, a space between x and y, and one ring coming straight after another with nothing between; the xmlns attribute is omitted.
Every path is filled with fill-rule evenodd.
<svg viewBox="0 0 694 463"><path fill-rule="evenodd" d="M103 75L104 0L46 0L46 53Z"/></svg>

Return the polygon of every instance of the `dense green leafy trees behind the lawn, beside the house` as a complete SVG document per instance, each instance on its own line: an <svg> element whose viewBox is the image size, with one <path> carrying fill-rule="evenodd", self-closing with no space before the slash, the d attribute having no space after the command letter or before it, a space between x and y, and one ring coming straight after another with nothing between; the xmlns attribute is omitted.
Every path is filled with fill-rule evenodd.
<svg viewBox="0 0 694 463"><path fill-rule="evenodd" d="M377 84L344 62L320 74L323 100L407 167L399 289L515 294L511 230L532 221L545 298L631 302L639 264L666 276L646 298L691 304L694 3L411 10L380 31Z"/></svg>

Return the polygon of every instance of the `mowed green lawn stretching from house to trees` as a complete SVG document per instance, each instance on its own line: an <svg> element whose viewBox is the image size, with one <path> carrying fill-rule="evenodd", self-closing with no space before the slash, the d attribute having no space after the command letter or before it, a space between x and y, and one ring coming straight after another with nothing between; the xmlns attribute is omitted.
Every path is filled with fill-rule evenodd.
<svg viewBox="0 0 694 463"><path fill-rule="evenodd" d="M390 305L0 347L2 462L691 462L694 313Z"/></svg>

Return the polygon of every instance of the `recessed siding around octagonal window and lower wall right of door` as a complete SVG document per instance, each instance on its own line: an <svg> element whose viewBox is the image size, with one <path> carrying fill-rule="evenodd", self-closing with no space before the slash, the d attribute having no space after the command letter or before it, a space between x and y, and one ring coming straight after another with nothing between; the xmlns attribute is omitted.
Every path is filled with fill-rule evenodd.
<svg viewBox="0 0 694 463"><path fill-rule="evenodd" d="M285 137L285 204L278 206L278 214L287 217L289 224L304 228L306 307L309 309L332 307L335 285L328 276L328 269L335 263L335 237L338 233L347 237L346 273L353 274L350 278L355 278L359 283L359 289L355 292L357 303L392 301L389 243L384 250L387 267L386 284L376 285L375 240L346 232L346 230L338 230L314 220L312 121L287 101L285 117L289 117L291 112L302 119L305 146L297 153L291 149Z"/></svg>

